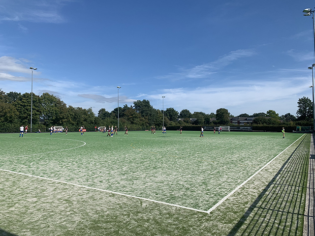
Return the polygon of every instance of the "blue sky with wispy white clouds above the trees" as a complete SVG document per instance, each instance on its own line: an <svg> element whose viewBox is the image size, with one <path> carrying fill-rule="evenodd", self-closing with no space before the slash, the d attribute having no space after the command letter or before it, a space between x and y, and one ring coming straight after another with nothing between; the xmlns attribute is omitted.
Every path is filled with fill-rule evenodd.
<svg viewBox="0 0 315 236"><path fill-rule="evenodd" d="M311 0L0 0L0 89L112 111L296 115L312 98ZM165 96L162 99L162 96Z"/></svg>

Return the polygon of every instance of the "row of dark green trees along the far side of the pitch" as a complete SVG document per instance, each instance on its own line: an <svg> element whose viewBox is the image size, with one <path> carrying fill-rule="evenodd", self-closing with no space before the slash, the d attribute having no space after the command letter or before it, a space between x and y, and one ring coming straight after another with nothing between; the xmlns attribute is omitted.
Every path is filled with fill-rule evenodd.
<svg viewBox="0 0 315 236"><path fill-rule="evenodd" d="M31 93L4 92L0 89L0 132L17 132L21 125L31 124ZM240 114L238 117L253 117L252 124L260 125L313 125L313 103L308 97L299 98L297 117L287 113L279 116L275 111L266 113ZM220 108L216 113L206 114L174 108L164 111L164 125L232 125L232 116L227 109ZM68 126L69 131L77 131L84 126L93 131L95 126L118 125L118 108L106 111L104 108L96 115L92 108L67 106L60 98L49 93L36 95L32 101L32 132L38 129L48 131L52 126ZM119 126L129 130L146 130L151 126L160 129L163 124L163 111L155 109L149 100L137 100L133 105L119 107ZM192 119L192 120L191 120Z"/></svg>

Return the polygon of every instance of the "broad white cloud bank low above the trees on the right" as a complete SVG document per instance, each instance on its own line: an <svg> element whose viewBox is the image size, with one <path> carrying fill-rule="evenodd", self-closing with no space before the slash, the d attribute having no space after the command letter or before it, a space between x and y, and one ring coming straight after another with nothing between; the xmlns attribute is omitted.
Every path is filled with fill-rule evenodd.
<svg viewBox="0 0 315 236"><path fill-rule="evenodd" d="M309 78L297 77L273 81L235 81L233 85L199 88L164 89L154 95L141 94L142 99L153 102L154 107L174 107L177 111L188 109L190 112L216 112L226 108L233 115L243 112L252 114L275 110L277 113L295 114L298 97L311 90ZM159 108L161 109L161 108Z"/></svg>

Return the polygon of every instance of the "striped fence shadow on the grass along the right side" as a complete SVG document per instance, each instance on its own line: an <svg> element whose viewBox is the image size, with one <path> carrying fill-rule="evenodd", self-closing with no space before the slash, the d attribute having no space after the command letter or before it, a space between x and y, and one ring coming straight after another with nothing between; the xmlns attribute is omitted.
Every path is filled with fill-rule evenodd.
<svg viewBox="0 0 315 236"><path fill-rule="evenodd" d="M309 139L304 137L228 236L302 235Z"/></svg>

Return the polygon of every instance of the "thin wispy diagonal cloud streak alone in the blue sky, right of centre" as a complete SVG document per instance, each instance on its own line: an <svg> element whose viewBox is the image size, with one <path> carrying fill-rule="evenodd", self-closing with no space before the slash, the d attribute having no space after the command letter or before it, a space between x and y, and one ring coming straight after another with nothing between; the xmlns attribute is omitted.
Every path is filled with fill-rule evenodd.
<svg viewBox="0 0 315 236"><path fill-rule="evenodd" d="M169 73L167 75L158 76L157 78L171 80L207 78L210 75L217 73L219 69L231 64L233 61L251 57L254 54L255 52L252 49L236 50L223 55L213 62L197 65L192 68L180 68L180 72Z"/></svg>

